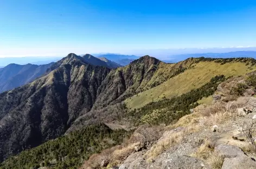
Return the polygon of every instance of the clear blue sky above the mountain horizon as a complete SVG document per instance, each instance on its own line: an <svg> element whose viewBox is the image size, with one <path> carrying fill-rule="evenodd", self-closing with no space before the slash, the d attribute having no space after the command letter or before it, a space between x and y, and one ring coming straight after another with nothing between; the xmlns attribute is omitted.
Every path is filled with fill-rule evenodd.
<svg viewBox="0 0 256 169"><path fill-rule="evenodd" d="M0 57L256 46L256 1L0 2Z"/></svg>

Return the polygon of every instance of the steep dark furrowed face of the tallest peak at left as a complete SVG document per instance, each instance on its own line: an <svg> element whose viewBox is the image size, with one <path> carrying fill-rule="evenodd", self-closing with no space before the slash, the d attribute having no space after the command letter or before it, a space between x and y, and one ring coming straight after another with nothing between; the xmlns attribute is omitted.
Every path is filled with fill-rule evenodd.
<svg viewBox="0 0 256 169"><path fill-rule="evenodd" d="M86 64L74 54L61 62L48 75L0 95L1 160L60 137L92 108L110 69Z"/></svg>

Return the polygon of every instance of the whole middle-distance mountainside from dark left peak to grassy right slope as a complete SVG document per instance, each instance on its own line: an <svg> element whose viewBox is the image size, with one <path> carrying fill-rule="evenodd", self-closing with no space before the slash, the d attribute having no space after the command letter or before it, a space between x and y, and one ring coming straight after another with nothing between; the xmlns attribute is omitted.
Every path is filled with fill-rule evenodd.
<svg viewBox="0 0 256 169"><path fill-rule="evenodd" d="M169 125L212 95L228 76L255 70L254 64L246 58L191 58L168 64L143 56L125 67L109 69L69 54L40 79L0 94L1 161L99 122L124 128ZM155 96L147 98L151 93ZM36 160L37 166L43 161Z"/></svg>

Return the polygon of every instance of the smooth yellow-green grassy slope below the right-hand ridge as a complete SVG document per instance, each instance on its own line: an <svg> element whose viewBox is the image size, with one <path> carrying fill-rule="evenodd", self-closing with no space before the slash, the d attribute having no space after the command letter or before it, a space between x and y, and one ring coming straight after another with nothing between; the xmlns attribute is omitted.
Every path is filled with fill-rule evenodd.
<svg viewBox="0 0 256 169"><path fill-rule="evenodd" d="M165 66L168 66L168 64ZM174 66L175 65L172 65L172 67ZM164 96L166 98L171 98L172 96L187 93L191 89L199 88L200 86L204 85L216 75L223 74L228 77L231 75L244 75L248 72L256 70L255 66L251 66L251 64L246 66L246 63L244 62L230 62L221 64L213 61L202 61L199 63L194 63L192 66L194 66L194 68L190 68L184 73L172 77L161 85L134 95L130 99L126 99L125 103L127 107L131 109L139 108L151 101L161 100Z"/></svg>

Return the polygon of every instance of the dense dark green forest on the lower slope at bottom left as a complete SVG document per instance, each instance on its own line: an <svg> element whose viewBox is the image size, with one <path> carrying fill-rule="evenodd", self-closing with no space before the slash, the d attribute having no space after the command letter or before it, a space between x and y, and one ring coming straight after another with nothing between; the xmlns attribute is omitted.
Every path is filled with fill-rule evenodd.
<svg viewBox="0 0 256 169"><path fill-rule="evenodd" d="M132 132L132 131L131 131ZM55 140L22 151L0 165L1 169L39 168L78 168L90 155L118 145L129 137L131 132L123 129L112 131L104 124L85 127Z"/></svg>

